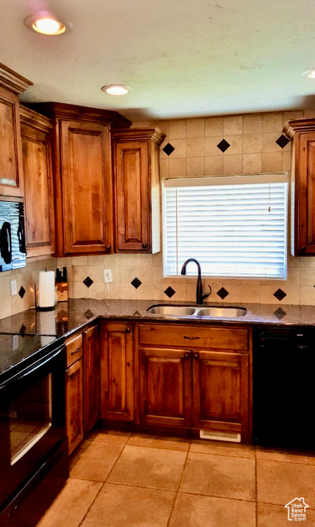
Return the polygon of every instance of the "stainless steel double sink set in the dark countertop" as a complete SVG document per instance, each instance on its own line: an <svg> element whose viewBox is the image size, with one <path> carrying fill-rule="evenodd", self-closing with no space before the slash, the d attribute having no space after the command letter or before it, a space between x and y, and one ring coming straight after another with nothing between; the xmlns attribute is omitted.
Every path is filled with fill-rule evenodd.
<svg viewBox="0 0 315 527"><path fill-rule="evenodd" d="M208 316L214 318L237 318L247 314L244 307L223 306L216 305L194 306L194 305L151 305L147 309L147 313L160 316L194 316L196 318Z"/></svg>

